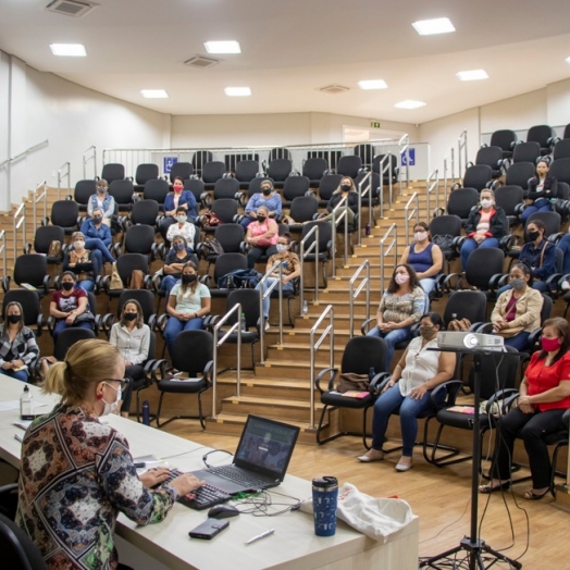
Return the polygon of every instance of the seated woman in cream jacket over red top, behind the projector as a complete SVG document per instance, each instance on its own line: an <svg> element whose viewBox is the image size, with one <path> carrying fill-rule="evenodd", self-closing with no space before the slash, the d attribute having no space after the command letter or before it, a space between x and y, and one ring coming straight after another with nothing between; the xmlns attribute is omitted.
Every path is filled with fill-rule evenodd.
<svg viewBox="0 0 570 570"><path fill-rule="evenodd" d="M532 288L529 265L512 265L509 275L512 287L501 293L491 313L493 332L505 338L505 344L522 350L530 334L541 326L541 310L544 299L541 292Z"/></svg>

